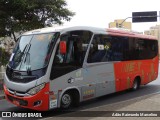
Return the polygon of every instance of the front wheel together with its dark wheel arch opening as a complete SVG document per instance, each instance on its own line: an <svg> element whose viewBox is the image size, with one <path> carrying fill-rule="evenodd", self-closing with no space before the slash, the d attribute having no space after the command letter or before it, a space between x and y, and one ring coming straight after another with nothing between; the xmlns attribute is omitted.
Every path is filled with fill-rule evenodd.
<svg viewBox="0 0 160 120"><path fill-rule="evenodd" d="M61 108L68 109L70 107L77 107L80 103L80 94L78 90L71 89L63 93L61 97Z"/></svg>

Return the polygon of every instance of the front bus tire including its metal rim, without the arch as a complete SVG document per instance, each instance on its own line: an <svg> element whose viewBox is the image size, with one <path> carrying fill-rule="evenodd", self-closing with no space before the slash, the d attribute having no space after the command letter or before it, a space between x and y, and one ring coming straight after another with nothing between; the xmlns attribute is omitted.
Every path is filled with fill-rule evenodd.
<svg viewBox="0 0 160 120"><path fill-rule="evenodd" d="M65 92L61 97L61 108L62 109L68 109L72 105L72 95L70 92Z"/></svg>

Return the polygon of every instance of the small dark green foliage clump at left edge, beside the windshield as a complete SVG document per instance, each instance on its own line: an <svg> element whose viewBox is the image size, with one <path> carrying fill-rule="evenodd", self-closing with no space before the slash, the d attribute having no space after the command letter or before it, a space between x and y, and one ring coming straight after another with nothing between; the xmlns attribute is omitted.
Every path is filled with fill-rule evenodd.
<svg viewBox="0 0 160 120"><path fill-rule="evenodd" d="M0 66L8 63L9 56L9 53L7 53L3 48L0 48Z"/></svg>

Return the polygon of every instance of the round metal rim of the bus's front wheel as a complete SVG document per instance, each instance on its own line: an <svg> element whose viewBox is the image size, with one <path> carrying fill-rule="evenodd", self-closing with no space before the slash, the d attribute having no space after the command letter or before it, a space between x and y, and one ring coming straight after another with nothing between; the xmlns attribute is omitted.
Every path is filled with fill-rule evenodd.
<svg viewBox="0 0 160 120"><path fill-rule="evenodd" d="M69 94L64 94L62 97L63 107L69 107L71 104L71 96Z"/></svg>

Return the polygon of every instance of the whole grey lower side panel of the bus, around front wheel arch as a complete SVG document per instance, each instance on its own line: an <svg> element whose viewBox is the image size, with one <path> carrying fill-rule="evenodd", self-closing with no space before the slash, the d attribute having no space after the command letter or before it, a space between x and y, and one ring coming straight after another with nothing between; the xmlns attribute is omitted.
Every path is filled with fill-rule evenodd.
<svg viewBox="0 0 160 120"><path fill-rule="evenodd" d="M54 102L55 105L50 103L50 109L60 107L61 96L71 89L79 91L80 101L116 92L113 63L89 65L52 80L50 91L56 99L50 98L50 102L58 102Z"/></svg>

